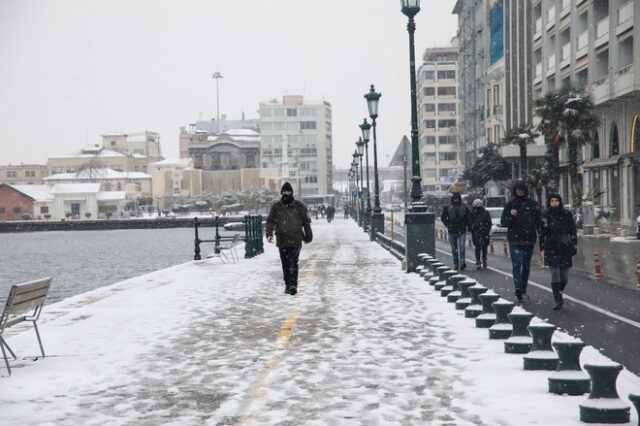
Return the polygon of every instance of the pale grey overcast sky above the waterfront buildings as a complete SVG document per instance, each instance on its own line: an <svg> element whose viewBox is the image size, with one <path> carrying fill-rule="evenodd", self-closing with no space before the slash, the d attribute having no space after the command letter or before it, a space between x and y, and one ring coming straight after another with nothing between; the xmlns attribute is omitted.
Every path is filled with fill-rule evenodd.
<svg viewBox="0 0 640 426"><path fill-rule="evenodd" d="M416 56L448 44L454 0L422 0ZM283 94L333 106L345 166L374 83L378 160L410 132L406 17L398 0L0 0L0 164L44 163L107 132L152 130L177 157L180 126L257 117Z"/></svg>

